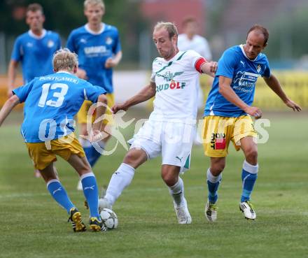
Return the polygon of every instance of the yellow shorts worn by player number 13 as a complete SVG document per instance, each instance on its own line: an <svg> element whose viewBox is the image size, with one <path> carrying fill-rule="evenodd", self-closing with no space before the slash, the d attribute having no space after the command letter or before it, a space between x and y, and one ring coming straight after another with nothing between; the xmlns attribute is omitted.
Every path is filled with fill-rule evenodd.
<svg viewBox="0 0 308 258"><path fill-rule="evenodd" d="M52 140L46 143L26 143L29 156L36 169L45 169L51 162L55 162L59 155L68 160L72 154L85 157L85 152L75 137L75 134Z"/></svg>

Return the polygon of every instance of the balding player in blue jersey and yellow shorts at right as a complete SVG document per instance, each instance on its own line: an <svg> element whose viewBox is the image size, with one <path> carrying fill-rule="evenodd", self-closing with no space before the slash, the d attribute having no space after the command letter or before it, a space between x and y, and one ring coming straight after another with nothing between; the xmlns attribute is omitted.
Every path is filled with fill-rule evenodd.
<svg viewBox="0 0 308 258"><path fill-rule="evenodd" d="M258 24L249 29L246 44L228 48L218 62L218 71L204 109L204 152L211 159L207 171L209 189L205 216L209 221L217 218L216 201L221 173L225 168L230 141L236 150L243 150L245 160L241 171L242 193L239 209L246 219L255 220L251 205L251 192L258 176L257 136L251 117L262 116L260 108L251 106L255 82L259 76L293 110L300 106L283 92L277 78L269 69L269 62L262 50L267 45L269 32Z"/></svg>

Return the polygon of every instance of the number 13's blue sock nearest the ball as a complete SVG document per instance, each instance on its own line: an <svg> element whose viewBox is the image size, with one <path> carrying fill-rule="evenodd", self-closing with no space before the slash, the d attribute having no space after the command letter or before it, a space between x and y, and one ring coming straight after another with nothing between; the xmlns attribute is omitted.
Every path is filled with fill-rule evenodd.
<svg viewBox="0 0 308 258"><path fill-rule="evenodd" d="M92 172L83 174L81 177L81 183L83 184L83 194L87 199L87 204L90 210L90 217L99 217L99 189L97 188L97 181L95 175Z"/></svg>

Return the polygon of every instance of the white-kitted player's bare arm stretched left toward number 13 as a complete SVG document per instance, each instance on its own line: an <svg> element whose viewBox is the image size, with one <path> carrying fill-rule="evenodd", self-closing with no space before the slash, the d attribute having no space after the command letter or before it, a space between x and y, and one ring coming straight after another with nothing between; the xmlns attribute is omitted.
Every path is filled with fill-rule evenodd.
<svg viewBox="0 0 308 258"><path fill-rule="evenodd" d="M118 110L127 110L131 106L137 105L141 102L147 101L148 99L151 99L156 94L156 84L153 82L150 82L149 85L141 89L140 92L138 92L136 95L132 96L130 99L127 99L123 104L116 104L111 108L113 113L117 113Z"/></svg>

